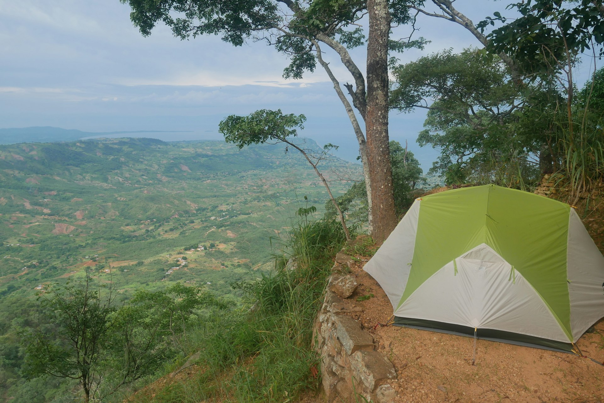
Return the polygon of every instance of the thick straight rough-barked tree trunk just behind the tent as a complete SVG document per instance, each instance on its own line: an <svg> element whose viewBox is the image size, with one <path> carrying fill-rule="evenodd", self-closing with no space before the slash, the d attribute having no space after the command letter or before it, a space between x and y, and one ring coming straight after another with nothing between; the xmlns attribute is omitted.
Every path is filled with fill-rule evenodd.
<svg viewBox="0 0 604 403"><path fill-rule="evenodd" d="M388 148L388 0L368 0L367 163L371 178L371 236L381 243L396 227Z"/></svg>

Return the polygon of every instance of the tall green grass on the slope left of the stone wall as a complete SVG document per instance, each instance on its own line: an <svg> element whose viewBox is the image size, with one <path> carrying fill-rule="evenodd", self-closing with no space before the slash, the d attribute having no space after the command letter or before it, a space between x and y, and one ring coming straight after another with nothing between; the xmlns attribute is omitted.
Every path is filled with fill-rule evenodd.
<svg viewBox="0 0 604 403"><path fill-rule="evenodd" d="M338 222L310 221L301 215L275 269L243 291L243 308L208 315L191 337L201 352L201 370L132 402L287 402L318 385L311 368L318 356L310 349L313 319L321 303L333 255L342 247ZM286 265L294 257L295 267Z"/></svg>

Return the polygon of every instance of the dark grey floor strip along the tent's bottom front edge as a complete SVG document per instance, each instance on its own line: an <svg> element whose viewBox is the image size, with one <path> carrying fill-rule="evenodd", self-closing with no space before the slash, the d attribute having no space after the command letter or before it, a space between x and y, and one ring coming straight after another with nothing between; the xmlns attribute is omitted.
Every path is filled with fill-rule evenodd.
<svg viewBox="0 0 604 403"><path fill-rule="evenodd" d="M413 329L430 330L464 337L474 337L474 327L461 326L460 324L444 323L434 320L417 318L394 317L394 326L411 327ZM480 340L497 341L499 343L515 344L516 346L534 347L537 349L551 350L562 353L573 352L573 344L562 341L548 340L545 338L528 336L504 330L478 329L477 338Z"/></svg>

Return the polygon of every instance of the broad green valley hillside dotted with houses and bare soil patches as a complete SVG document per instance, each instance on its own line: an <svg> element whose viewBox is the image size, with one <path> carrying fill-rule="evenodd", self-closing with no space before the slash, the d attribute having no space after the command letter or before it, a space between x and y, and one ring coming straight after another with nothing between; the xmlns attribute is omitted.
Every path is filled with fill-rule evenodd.
<svg viewBox="0 0 604 403"><path fill-rule="evenodd" d="M327 176L332 169L359 167L326 161ZM320 209L326 199L301 156L280 146L239 150L221 141L0 146L0 181L0 386L6 387L18 379L16 332L36 324L30 313L37 289L91 269L114 282L122 299L174 282L233 296L231 283L256 277L269 262L270 238L289 228L303 196ZM343 193L346 185L332 187ZM28 385L36 387L48 385Z"/></svg>

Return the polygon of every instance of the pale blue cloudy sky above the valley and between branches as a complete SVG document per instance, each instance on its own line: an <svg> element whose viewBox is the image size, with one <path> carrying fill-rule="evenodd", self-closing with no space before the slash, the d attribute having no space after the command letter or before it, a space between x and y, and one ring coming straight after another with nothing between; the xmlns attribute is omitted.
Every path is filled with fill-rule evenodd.
<svg viewBox="0 0 604 403"><path fill-rule="evenodd" d="M506 4L455 5L478 22ZM217 36L180 40L164 25L143 37L129 13L118 0L0 0L0 128L190 131L162 140L219 140L217 126L227 115L280 108L306 115L301 135L336 144L338 156L355 160L350 121L320 67L301 80L284 80L288 60L265 43L233 47ZM420 15L417 27L432 42L423 51L407 51L401 62L479 45L463 27L443 19ZM408 32L396 28L393 38ZM351 54L364 70L364 48ZM325 59L341 83L352 82L335 54ZM424 119L425 111L393 112L390 138L408 141L427 170L438 152L416 144Z"/></svg>

